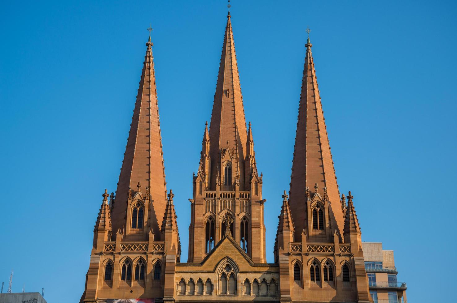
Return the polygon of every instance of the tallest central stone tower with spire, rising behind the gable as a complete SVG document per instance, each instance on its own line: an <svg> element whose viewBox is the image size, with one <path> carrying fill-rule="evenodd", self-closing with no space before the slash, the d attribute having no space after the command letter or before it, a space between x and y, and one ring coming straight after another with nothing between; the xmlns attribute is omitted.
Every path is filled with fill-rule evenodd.
<svg viewBox="0 0 457 303"><path fill-rule="evenodd" d="M255 262L265 262L262 177L257 173L251 125L246 130L230 15L219 65L213 113L203 134L194 176L189 226L189 262L200 262L225 235Z"/></svg>

